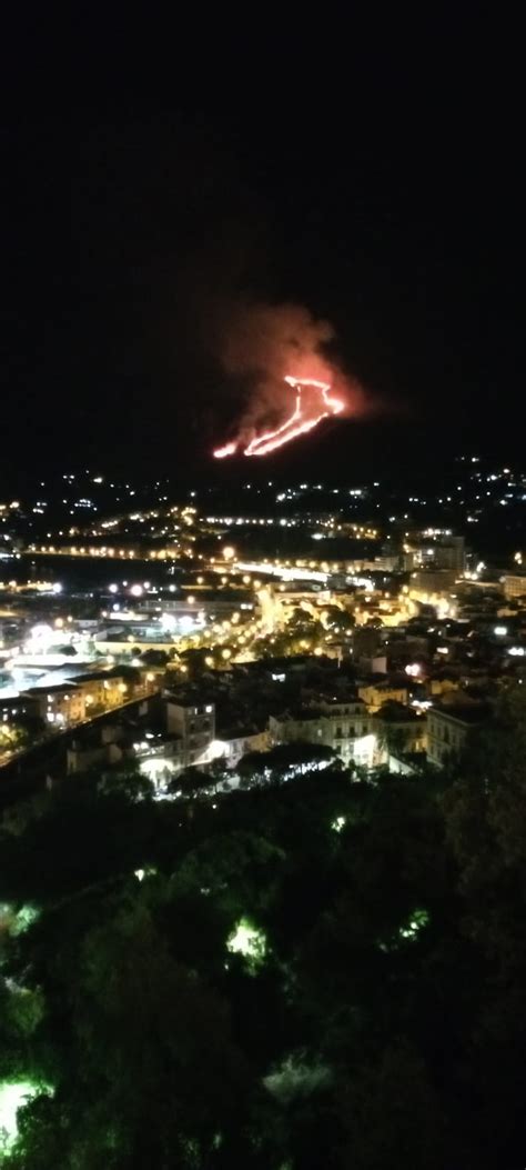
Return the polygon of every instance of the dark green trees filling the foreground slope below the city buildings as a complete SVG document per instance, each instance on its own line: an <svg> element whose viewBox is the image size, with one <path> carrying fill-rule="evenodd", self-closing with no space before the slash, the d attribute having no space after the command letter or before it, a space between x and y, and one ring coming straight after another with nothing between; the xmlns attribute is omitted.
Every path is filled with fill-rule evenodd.
<svg viewBox="0 0 526 1170"><path fill-rule="evenodd" d="M515 697L441 777L76 777L12 819L6 1170L522 1166L525 748Z"/></svg>

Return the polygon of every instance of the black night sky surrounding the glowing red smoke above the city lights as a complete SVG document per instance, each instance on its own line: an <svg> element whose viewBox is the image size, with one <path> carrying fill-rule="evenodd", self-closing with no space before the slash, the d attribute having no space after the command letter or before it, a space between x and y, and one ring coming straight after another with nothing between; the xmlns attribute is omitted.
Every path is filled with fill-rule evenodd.
<svg viewBox="0 0 526 1170"><path fill-rule="evenodd" d="M208 28L206 46L154 29L146 54L140 23L129 53L117 21L84 15L43 42L13 29L6 49L4 479L217 474L207 452L241 402L208 312L233 295L334 324L374 413L309 440L333 474L517 456L514 30L451 9L380 42L373 14L359 33Z"/></svg>

